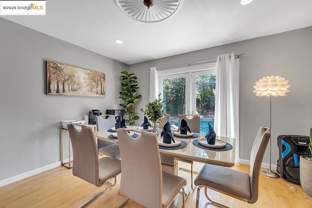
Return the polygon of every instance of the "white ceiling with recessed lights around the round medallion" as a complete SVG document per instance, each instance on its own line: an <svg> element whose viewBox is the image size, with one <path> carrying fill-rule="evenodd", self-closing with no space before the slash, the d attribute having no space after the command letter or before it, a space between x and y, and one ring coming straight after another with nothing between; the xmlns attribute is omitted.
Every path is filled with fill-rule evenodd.
<svg viewBox="0 0 312 208"><path fill-rule="evenodd" d="M1 17L134 64L312 26L312 0L183 0L155 23L128 17L114 0L46 0L45 16Z"/></svg>

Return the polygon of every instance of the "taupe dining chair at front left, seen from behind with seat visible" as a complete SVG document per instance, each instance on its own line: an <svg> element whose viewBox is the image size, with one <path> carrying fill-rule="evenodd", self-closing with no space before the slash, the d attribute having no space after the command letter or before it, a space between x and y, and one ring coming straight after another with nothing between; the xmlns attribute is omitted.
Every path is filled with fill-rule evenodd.
<svg viewBox="0 0 312 208"><path fill-rule="evenodd" d="M73 175L97 187L105 185L101 192L80 207L84 208L102 195L108 184L115 186L116 176L121 172L121 163L120 160L111 157L98 159L98 150L92 128L80 124L75 125L80 126L81 131L78 131L72 124L67 125L73 146ZM113 178L115 182L111 184L109 180Z"/></svg>

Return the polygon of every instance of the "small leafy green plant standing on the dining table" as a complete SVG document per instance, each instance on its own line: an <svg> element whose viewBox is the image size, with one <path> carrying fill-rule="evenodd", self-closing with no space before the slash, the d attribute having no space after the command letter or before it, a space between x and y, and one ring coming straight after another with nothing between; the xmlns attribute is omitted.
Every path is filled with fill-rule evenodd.
<svg viewBox="0 0 312 208"><path fill-rule="evenodd" d="M162 105L163 101L160 98L160 95L161 94L159 93L158 99L148 103L144 111L144 115L146 115L153 122L153 132L156 132L157 120L164 116L164 106Z"/></svg>

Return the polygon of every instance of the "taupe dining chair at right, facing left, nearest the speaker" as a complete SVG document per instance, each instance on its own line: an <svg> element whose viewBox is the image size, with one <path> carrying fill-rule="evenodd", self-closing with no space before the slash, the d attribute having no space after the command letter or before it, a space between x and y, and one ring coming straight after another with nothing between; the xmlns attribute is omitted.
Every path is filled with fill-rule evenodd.
<svg viewBox="0 0 312 208"><path fill-rule="evenodd" d="M245 172L226 167L205 164L195 179L197 188L196 208L199 203L201 188L205 188L205 195L213 204L228 206L209 198L207 188L227 194L234 198L253 204L258 199L259 173L265 149L271 137L267 127L260 127L255 137L250 156L250 175Z"/></svg>

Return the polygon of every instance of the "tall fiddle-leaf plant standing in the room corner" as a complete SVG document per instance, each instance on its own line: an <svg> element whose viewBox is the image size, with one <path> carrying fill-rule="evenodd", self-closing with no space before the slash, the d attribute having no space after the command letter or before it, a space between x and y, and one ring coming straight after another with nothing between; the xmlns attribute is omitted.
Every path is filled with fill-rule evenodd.
<svg viewBox="0 0 312 208"><path fill-rule="evenodd" d="M124 101L123 104L119 104L124 108L125 114L129 115L129 120L126 120L130 126L133 126L135 121L140 117L136 113L136 105L142 95L137 94L137 76L129 74L127 71L122 71L121 77L121 92L120 99Z"/></svg>

